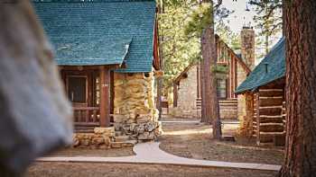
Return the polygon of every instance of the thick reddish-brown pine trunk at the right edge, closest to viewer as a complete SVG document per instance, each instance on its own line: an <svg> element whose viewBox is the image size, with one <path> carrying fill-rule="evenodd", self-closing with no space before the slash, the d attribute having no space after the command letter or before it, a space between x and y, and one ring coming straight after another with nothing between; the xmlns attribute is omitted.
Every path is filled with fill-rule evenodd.
<svg viewBox="0 0 316 177"><path fill-rule="evenodd" d="M279 176L315 176L316 1L285 3L287 134Z"/></svg>

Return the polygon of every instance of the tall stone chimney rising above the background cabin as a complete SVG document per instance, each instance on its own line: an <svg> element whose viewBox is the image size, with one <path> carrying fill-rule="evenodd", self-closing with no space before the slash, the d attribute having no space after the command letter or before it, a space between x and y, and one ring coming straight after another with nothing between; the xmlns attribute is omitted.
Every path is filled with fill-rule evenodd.
<svg viewBox="0 0 316 177"><path fill-rule="evenodd" d="M252 27L243 27L241 37L241 58L251 70L255 67L255 31Z"/></svg>

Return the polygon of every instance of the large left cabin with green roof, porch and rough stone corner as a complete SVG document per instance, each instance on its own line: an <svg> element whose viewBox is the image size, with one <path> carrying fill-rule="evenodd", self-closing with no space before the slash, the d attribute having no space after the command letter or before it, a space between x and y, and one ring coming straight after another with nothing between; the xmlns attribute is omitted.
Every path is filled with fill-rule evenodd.
<svg viewBox="0 0 316 177"><path fill-rule="evenodd" d="M161 69L155 2L33 0L33 6L55 49L75 132L114 126L153 139L154 73Z"/></svg>

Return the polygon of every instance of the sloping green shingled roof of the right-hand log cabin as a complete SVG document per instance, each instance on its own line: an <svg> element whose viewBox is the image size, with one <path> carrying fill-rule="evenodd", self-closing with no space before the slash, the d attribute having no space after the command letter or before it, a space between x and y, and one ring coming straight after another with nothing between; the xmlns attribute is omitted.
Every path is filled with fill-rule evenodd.
<svg viewBox="0 0 316 177"><path fill-rule="evenodd" d="M267 66L267 72L266 72ZM235 93L256 90L259 86L269 84L285 75L285 40L279 40L258 66L237 87Z"/></svg>

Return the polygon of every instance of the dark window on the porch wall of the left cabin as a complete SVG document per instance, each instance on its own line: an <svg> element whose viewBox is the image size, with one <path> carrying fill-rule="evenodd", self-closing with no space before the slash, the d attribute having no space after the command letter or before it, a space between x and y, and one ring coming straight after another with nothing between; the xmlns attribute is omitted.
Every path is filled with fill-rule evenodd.
<svg viewBox="0 0 316 177"><path fill-rule="evenodd" d="M68 77L68 97L71 102L87 102L87 77Z"/></svg>

